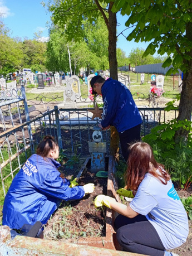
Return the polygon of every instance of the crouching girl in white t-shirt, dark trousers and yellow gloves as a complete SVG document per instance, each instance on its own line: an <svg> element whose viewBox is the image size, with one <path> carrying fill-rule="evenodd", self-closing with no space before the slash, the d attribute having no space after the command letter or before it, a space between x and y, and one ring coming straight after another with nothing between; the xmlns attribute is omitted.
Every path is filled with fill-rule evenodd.
<svg viewBox="0 0 192 256"><path fill-rule="evenodd" d="M117 240L127 252L171 256L185 243L188 216L164 166L155 161L149 144L137 142L129 148L127 189L136 191L130 205L99 195L95 206L106 205L119 212L115 220Z"/></svg>

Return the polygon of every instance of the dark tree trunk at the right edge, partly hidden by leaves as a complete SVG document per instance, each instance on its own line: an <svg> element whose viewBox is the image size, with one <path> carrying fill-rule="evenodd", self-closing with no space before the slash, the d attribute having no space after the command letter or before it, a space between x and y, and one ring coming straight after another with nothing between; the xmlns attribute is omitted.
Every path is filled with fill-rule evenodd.
<svg viewBox="0 0 192 256"><path fill-rule="evenodd" d="M189 41L192 41L192 24L191 22L186 23L186 37ZM192 50L187 52L187 54L192 58ZM190 70L184 73L183 85L181 91L181 98L179 103L179 115L178 120L190 120L192 111L192 60L184 59L184 64L190 67ZM181 138L184 141L188 138L189 131L186 129L179 129L175 134L175 141L180 141Z"/></svg>

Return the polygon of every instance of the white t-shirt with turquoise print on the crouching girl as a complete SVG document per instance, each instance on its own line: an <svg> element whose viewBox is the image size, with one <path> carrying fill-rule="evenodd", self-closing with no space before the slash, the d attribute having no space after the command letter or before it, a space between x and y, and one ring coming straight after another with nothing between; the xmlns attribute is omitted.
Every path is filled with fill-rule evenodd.
<svg viewBox="0 0 192 256"><path fill-rule="evenodd" d="M171 180L164 185L150 173L146 173L130 207L139 214L146 215L165 249L174 249L185 243L189 233L188 216ZM155 220L149 217L149 213Z"/></svg>

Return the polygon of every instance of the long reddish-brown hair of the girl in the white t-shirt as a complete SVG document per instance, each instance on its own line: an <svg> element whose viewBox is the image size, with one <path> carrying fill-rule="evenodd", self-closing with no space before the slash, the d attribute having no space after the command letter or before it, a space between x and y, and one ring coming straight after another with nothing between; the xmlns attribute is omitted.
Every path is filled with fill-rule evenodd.
<svg viewBox="0 0 192 256"><path fill-rule="evenodd" d="M166 185L170 176L164 171L164 168L164 165L156 162L149 144L145 142L132 144L129 147L129 158L125 173L127 189L137 190L147 172Z"/></svg>

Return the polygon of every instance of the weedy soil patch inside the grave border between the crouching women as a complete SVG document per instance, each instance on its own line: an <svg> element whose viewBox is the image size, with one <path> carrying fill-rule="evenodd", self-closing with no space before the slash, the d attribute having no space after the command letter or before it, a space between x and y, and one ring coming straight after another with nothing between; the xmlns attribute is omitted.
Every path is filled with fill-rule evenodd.
<svg viewBox="0 0 192 256"><path fill-rule="evenodd" d="M97 195L107 194L107 178L96 177L85 169L78 179L78 185L94 183L92 194L81 200L63 201L45 226L45 239L77 243L81 237L106 235L106 208L96 209L93 201Z"/></svg>

